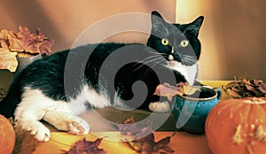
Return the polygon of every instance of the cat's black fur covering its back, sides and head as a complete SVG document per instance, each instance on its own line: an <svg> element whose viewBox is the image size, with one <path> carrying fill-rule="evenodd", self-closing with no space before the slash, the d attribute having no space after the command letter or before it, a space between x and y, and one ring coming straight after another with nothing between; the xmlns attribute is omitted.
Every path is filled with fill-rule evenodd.
<svg viewBox="0 0 266 154"><path fill-rule="evenodd" d="M120 96L121 100L130 100L134 97L132 84L135 81L145 82L148 89L147 96L144 102L135 102L135 104L129 102L126 105L134 108L147 108L149 103L160 99L153 93L157 85L171 80L170 77L167 77L168 74L171 76L170 74L174 73L175 83L186 81L183 74L166 66L170 60L168 55L172 55L174 60L188 66L199 60L200 41L198 35L203 17L190 24L180 25L170 24L162 19L158 12L153 12L152 20L152 35L146 45L114 42L88 44L73 50L57 52L28 65L12 82L7 96L0 103L0 114L4 114L5 117L13 116L17 105L20 104L25 87L39 89L45 96L53 100L67 101L70 97L74 98L78 95L83 84L88 84L91 89L95 89L98 93L105 91L113 103L116 95ZM180 31L176 31L176 28ZM168 38L168 45L161 44L162 38ZM190 42L192 48L180 46L180 42L184 39ZM175 53L171 53L173 47ZM137 58L134 58L135 62L127 63L127 60L132 60L127 58L127 55L131 57L130 54L133 52L137 54L135 55ZM164 58L163 60L156 56L155 58L159 59L154 61L153 58L149 58L158 52ZM121 53L125 54L121 56ZM112 60L106 62L106 58L110 55L113 55ZM183 55L190 56L192 60L184 60ZM87 63L82 63L88 58ZM66 60L69 61L67 65ZM137 63L137 61L143 62L143 64ZM123 63L127 65L118 69L114 79L112 75L108 75ZM100 73L99 69L101 68L105 68L105 72ZM153 70L159 70L165 76L159 79L158 74ZM174 85L175 83L172 82ZM90 102L87 105L91 107Z"/></svg>

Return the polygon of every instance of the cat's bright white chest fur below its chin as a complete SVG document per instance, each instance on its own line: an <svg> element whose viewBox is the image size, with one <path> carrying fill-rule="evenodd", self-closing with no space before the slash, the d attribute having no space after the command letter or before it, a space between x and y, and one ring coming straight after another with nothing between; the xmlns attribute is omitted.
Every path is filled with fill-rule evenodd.
<svg viewBox="0 0 266 154"><path fill-rule="evenodd" d="M190 85L194 84L194 81L198 74L198 63L195 63L194 65L182 65L181 63L177 61L168 61L167 67L176 70L179 73L182 73L184 75L184 78Z"/></svg>

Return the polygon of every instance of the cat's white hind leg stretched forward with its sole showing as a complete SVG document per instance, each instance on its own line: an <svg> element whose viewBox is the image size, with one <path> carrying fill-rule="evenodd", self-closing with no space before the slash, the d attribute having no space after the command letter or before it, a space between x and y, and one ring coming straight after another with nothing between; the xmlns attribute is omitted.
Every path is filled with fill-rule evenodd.
<svg viewBox="0 0 266 154"><path fill-rule="evenodd" d="M74 135L87 135L90 131L89 124L72 112L59 109L51 109L45 112L43 119L59 130Z"/></svg>

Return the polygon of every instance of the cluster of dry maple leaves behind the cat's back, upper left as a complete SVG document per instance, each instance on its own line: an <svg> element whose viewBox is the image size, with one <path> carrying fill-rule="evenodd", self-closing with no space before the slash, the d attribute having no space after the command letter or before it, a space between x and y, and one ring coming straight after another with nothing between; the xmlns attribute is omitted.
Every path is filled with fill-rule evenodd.
<svg viewBox="0 0 266 154"><path fill-rule="evenodd" d="M0 69L15 72L18 66L16 57L31 57L36 54L50 55L54 40L48 39L40 28L31 34L27 27L19 31L1 30L0 32Z"/></svg>

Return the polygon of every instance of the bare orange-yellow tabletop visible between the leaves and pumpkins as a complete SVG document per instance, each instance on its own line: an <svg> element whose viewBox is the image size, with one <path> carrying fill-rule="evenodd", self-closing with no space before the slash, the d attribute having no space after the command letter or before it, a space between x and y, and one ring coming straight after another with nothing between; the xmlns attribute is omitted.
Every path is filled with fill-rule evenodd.
<svg viewBox="0 0 266 154"><path fill-rule="evenodd" d="M221 88L222 85L226 85L229 81L202 81L210 87ZM223 91L222 100L227 99L228 96ZM156 131L154 132L155 141L172 135L172 131ZM81 140L82 138L94 141L97 138L104 137L100 144L100 148L106 150L107 153L136 153L130 149L124 142L119 142L123 136L118 131L107 132L90 132L89 135L69 135L64 132L51 132L51 140L49 142L41 143L35 153L62 153L62 150L69 150L74 142ZM209 154L211 151L207 147L207 139L205 135L192 135L186 132L177 132L171 138L169 147L175 150L175 153L182 154Z"/></svg>

